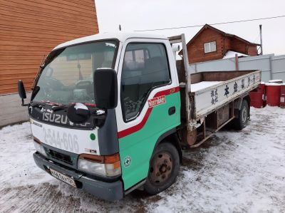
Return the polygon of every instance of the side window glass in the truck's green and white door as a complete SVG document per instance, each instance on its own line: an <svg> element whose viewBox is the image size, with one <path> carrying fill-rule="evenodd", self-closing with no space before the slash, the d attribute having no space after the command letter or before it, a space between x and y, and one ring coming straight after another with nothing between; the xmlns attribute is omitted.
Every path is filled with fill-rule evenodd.
<svg viewBox="0 0 285 213"><path fill-rule="evenodd" d="M162 43L130 43L125 50L121 78L124 120L135 118L152 88L170 83L170 70Z"/></svg>

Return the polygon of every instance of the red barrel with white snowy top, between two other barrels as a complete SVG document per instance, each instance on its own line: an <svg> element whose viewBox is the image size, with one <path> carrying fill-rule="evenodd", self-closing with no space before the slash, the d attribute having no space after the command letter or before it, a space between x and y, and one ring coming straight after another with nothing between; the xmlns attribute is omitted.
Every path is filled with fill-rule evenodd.
<svg viewBox="0 0 285 213"><path fill-rule="evenodd" d="M280 105L281 86L278 83L266 83L266 102L271 106Z"/></svg>

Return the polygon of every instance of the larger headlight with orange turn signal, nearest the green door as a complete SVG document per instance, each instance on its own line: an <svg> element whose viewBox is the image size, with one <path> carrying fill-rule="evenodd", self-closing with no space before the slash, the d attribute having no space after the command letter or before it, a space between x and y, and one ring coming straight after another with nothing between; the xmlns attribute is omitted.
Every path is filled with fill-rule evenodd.
<svg viewBox="0 0 285 213"><path fill-rule="evenodd" d="M82 154L78 159L78 170L107 177L120 175L120 155L118 153L108 156Z"/></svg>

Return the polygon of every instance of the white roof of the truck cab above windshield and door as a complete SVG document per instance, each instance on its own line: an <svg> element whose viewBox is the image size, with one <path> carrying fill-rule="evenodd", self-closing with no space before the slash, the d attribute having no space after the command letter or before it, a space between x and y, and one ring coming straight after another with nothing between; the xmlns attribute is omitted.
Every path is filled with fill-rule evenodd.
<svg viewBox="0 0 285 213"><path fill-rule="evenodd" d="M98 41L98 40L111 39L111 38L118 39L121 42L124 42L125 40L129 38L152 38L152 39L166 39L166 40L168 39L165 36L157 36L157 35L149 35L145 33L133 33L133 32L126 33L122 31L118 31L118 32L113 32L113 33L98 33L92 36L76 38L74 40L59 44L58 46L53 48L53 50L56 50L58 48L63 48L66 46L73 46L78 43L86 43L90 41Z"/></svg>

